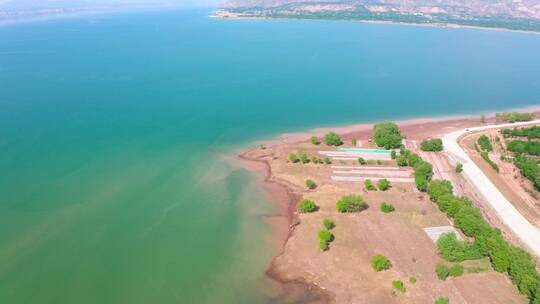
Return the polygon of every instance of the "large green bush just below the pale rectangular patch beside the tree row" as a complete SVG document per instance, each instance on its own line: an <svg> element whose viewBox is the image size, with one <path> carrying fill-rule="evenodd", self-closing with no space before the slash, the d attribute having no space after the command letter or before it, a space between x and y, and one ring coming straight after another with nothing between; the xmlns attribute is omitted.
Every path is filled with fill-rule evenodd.
<svg viewBox="0 0 540 304"><path fill-rule="evenodd" d="M453 232L445 233L439 237L437 249L441 257L450 262L482 258L482 253L476 246L458 240Z"/></svg>

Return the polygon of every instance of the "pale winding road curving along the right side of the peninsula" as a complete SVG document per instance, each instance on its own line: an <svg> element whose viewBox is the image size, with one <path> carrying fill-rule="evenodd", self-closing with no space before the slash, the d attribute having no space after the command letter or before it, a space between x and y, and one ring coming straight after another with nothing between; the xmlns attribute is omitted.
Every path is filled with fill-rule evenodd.
<svg viewBox="0 0 540 304"><path fill-rule="evenodd" d="M521 241L538 257L540 257L540 229L531 224L519 211L510 203L480 168L471 160L465 151L458 144L458 139L468 133L498 129L505 127L519 127L532 124L540 124L540 120L507 123L500 125L489 125L474 127L448 133L443 136L444 150L449 157L456 162L463 164L463 174L484 196L489 205L495 210L499 218L517 235Z"/></svg>

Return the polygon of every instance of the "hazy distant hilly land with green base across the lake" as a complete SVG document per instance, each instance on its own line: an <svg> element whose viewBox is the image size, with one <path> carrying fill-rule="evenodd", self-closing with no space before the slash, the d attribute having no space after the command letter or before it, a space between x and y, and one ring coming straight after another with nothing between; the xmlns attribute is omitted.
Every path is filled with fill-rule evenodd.
<svg viewBox="0 0 540 304"><path fill-rule="evenodd" d="M540 31L540 0L231 0L218 16L437 23Z"/></svg>

